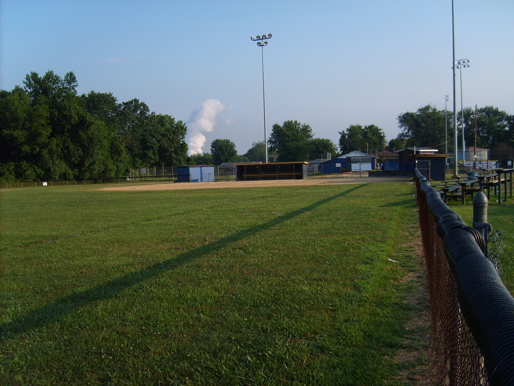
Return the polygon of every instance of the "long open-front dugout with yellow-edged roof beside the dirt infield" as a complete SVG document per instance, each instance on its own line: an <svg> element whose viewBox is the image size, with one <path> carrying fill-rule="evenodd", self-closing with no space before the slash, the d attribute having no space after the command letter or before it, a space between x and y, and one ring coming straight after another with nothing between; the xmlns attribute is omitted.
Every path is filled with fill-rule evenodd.
<svg viewBox="0 0 514 386"><path fill-rule="evenodd" d="M308 162L277 162L267 164L240 164L237 181L303 180L307 178Z"/></svg>

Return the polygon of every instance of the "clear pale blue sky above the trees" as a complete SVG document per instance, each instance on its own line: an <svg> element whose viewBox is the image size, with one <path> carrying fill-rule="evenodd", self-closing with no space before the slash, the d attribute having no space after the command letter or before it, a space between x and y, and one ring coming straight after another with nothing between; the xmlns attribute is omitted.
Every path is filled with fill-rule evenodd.
<svg viewBox="0 0 514 386"><path fill-rule="evenodd" d="M455 0L455 56L471 59L465 107L514 114L512 16L511 0ZM243 154L264 139L250 40L264 33L268 136L293 119L336 144L356 124L391 139L399 114L444 109L445 95L452 108L451 0L0 0L0 89L72 71L80 94L138 98L187 122L188 142L200 131L203 151L229 138ZM459 87L457 75L457 109Z"/></svg>

